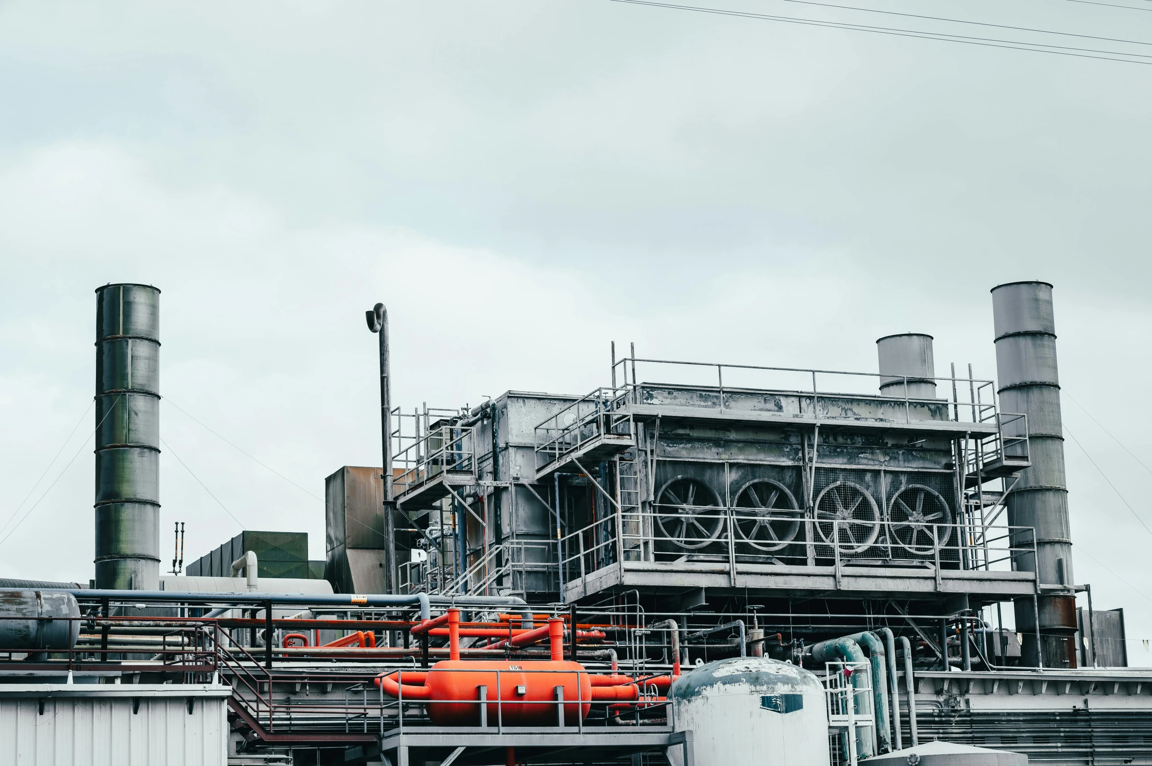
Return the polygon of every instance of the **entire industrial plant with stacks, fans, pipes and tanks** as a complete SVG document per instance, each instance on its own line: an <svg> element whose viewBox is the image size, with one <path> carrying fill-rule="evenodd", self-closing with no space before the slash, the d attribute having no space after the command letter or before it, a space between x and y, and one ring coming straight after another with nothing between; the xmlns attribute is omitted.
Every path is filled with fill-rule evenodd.
<svg viewBox="0 0 1152 766"><path fill-rule="evenodd" d="M857 371L612 345L593 391L442 407L393 401L378 304L325 559L243 530L167 575L160 290L96 296L93 574L0 581L0 764L1152 764L1047 283L992 289L994 380L910 332Z"/></svg>

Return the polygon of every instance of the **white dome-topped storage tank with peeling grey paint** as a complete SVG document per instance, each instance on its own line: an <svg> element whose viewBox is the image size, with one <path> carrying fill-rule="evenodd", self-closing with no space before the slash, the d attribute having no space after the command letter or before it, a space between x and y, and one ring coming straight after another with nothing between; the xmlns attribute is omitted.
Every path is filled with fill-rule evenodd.
<svg viewBox="0 0 1152 766"><path fill-rule="evenodd" d="M692 731L696 766L828 766L824 685L767 657L734 657L681 675L668 691L676 731ZM681 749L669 748L673 766Z"/></svg>

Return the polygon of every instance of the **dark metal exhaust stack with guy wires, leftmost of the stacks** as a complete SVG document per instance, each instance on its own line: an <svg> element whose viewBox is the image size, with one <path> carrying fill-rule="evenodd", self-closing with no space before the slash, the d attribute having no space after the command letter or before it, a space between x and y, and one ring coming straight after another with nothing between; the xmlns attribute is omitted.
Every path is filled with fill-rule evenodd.
<svg viewBox="0 0 1152 766"><path fill-rule="evenodd" d="M96 291L96 587L160 585L160 291Z"/></svg>

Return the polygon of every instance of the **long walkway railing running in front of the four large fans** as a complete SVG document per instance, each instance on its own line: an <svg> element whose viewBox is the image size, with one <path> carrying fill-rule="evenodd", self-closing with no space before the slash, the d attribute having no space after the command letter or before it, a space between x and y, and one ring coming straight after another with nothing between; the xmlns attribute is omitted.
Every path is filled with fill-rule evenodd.
<svg viewBox="0 0 1152 766"><path fill-rule="evenodd" d="M560 539L561 580L571 583L623 561L841 566L852 562L941 569L1026 569L1036 556L1032 527L933 523L912 511L879 521L805 512L681 507L600 519ZM621 531L622 530L622 531Z"/></svg>

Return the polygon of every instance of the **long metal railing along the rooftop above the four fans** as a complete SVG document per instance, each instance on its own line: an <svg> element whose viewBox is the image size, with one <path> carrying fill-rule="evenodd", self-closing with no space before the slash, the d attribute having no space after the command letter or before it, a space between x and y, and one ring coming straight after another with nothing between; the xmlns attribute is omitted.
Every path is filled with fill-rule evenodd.
<svg viewBox="0 0 1152 766"><path fill-rule="evenodd" d="M639 368L639 369L638 369ZM641 382L654 370L664 382ZM670 373L670 380L666 380ZM720 412L772 412L817 420L986 423L996 412L995 384L969 377L914 377L798 367L624 358L613 362L606 397L634 405L681 405ZM935 396L912 396L917 384ZM884 384L890 395L877 393ZM677 391L690 396L680 397ZM765 395L780 395L765 399ZM791 400L791 401L786 401Z"/></svg>

